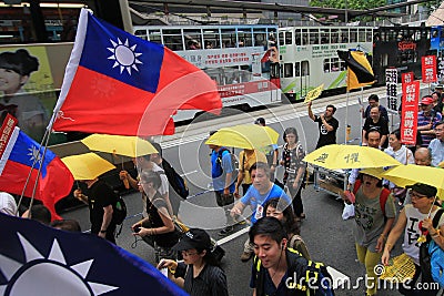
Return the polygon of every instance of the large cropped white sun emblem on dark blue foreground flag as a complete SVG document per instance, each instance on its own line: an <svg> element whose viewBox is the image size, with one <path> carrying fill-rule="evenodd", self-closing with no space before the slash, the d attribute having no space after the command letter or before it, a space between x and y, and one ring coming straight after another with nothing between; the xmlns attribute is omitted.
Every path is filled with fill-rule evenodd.
<svg viewBox="0 0 444 296"><path fill-rule="evenodd" d="M119 288L87 279L94 259L69 266L56 238L48 257L44 257L20 233L18 236L26 263L21 264L0 254L0 271L8 280L6 285L0 285L0 295L95 296Z"/></svg>

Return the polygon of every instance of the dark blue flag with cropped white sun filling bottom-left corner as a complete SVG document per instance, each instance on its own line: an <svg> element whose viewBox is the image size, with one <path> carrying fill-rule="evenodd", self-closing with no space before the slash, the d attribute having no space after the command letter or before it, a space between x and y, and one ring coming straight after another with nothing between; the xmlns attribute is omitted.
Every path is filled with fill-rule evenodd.
<svg viewBox="0 0 444 296"><path fill-rule="evenodd" d="M0 295L188 295L149 263L95 235L0 213Z"/></svg>

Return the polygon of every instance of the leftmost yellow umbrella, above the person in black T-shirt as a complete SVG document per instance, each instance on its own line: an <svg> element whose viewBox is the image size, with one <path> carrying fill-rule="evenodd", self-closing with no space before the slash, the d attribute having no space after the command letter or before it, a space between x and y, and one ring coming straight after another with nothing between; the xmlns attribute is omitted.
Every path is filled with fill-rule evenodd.
<svg viewBox="0 0 444 296"><path fill-rule="evenodd" d="M68 166L74 180L93 180L115 169L110 162L92 152L67 156L62 159L62 162Z"/></svg>

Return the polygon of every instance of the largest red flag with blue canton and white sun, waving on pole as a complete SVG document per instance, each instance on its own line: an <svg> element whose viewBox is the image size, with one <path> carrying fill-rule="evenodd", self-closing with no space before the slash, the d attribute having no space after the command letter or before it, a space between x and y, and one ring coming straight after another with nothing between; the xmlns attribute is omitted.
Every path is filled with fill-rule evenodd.
<svg viewBox="0 0 444 296"><path fill-rule="evenodd" d="M221 108L216 84L202 70L82 9L54 131L172 134L178 110L219 113Z"/></svg>

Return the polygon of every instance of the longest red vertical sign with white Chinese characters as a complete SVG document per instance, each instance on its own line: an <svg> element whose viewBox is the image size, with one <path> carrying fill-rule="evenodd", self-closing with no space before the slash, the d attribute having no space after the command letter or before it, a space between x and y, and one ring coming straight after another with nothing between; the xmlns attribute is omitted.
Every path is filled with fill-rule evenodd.
<svg viewBox="0 0 444 296"><path fill-rule="evenodd" d="M416 144L417 103L420 98L420 81L403 83L401 143Z"/></svg>

